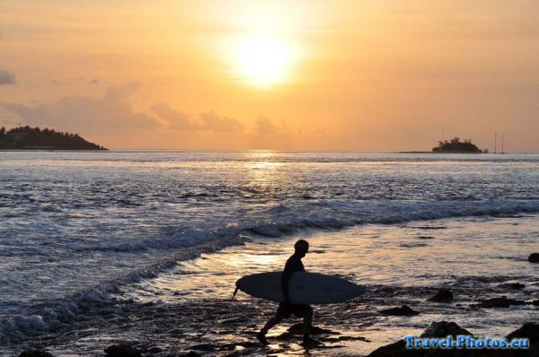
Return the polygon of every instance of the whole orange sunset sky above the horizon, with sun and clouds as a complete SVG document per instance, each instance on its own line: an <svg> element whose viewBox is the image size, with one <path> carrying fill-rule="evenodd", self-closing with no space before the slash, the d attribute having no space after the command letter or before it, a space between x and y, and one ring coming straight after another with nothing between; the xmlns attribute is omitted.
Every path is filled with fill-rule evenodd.
<svg viewBox="0 0 539 357"><path fill-rule="evenodd" d="M0 126L110 148L539 152L539 2L0 2Z"/></svg>

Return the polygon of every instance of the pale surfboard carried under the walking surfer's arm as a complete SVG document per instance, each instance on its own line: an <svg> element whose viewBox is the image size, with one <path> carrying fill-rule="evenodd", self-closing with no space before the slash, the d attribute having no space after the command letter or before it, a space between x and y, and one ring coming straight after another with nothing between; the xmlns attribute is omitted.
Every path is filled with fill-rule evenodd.
<svg viewBox="0 0 539 357"><path fill-rule="evenodd" d="M282 302L281 275L282 272L246 275L236 286L256 298ZM367 291L364 286L336 276L305 272L292 274L288 286L290 300L295 304L331 304L353 299Z"/></svg>

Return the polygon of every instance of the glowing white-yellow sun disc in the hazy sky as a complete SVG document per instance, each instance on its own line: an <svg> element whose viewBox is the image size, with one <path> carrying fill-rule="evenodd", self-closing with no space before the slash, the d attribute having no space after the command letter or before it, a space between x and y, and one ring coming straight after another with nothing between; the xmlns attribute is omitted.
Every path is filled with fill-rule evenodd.
<svg viewBox="0 0 539 357"><path fill-rule="evenodd" d="M241 39L234 51L235 73L244 83L268 88L290 79L295 51L285 40L257 35Z"/></svg>

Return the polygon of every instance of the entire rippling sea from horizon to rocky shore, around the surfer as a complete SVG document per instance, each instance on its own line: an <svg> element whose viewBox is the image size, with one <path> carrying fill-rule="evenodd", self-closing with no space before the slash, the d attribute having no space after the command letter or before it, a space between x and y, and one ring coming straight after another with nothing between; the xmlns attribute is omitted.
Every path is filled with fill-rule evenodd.
<svg viewBox="0 0 539 357"><path fill-rule="evenodd" d="M234 351L265 355L245 341L274 306L226 301L243 274L280 269L298 237L311 242L307 270L371 292L318 320L315 309L315 324L349 337L320 355L367 354L442 319L504 335L536 307L473 305L537 296L526 259L538 214L539 154L0 152L0 353L96 355L146 339L157 356L200 341L220 355L239 338ZM440 287L455 304L424 303ZM421 314L377 314L404 303Z"/></svg>

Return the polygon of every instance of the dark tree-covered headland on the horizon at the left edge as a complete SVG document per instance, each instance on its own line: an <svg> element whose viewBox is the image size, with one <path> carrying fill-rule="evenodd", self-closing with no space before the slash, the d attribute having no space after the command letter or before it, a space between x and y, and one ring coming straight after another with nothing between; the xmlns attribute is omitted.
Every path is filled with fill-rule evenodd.
<svg viewBox="0 0 539 357"><path fill-rule="evenodd" d="M0 127L0 150L108 150L90 143L78 134L53 129L18 126L6 131Z"/></svg>

